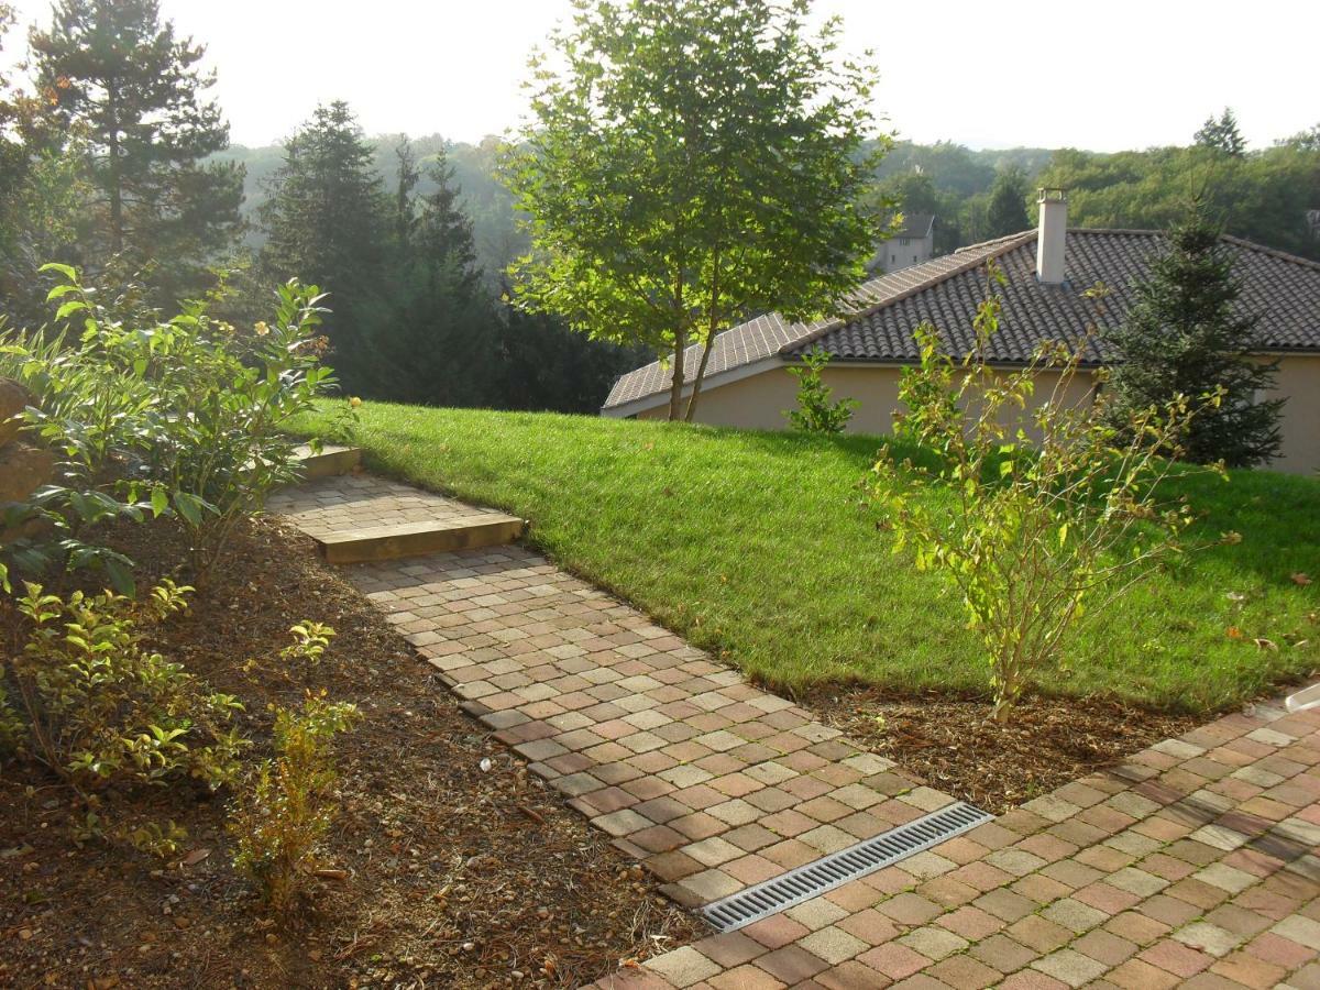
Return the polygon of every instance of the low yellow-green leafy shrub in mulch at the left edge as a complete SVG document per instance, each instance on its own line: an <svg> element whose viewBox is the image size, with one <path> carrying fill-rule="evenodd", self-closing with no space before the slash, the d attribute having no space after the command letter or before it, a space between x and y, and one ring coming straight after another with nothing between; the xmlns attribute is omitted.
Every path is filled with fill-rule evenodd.
<svg viewBox="0 0 1320 990"><path fill-rule="evenodd" d="M0 722L86 799L84 834L111 826L132 840L147 828L135 842L157 843L168 830L107 820L117 792L186 779L215 791L239 770L247 742L231 725L238 698L143 645L150 627L186 607L189 591L165 581L137 603L111 591L61 598L29 582L16 602L30 631L0 665L0 682L18 700L7 713L0 706Z"/></svg>

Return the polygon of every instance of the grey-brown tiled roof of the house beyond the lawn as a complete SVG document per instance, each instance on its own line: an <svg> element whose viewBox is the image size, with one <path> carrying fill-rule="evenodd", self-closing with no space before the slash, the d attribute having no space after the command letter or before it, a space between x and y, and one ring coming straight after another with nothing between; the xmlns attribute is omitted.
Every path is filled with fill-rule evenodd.
<svg viewBox="0 0 1320 990"><path fill-rule="evenodd" d="M1237 255L1241 305L1261 314L1261 348L1320 351L1320 264L1237 238L1224 240ZM789 323L772 313L726 330L715 338L706 376L775 355L796 356L814 346L838 360L911 362L917 356L912 331L923 321L939 327L952 350L965 352L972 318L987 292L989 257L1005 276L1005 284L995 286L1003 312L989 356L1008 364L1026 362L1040 341L1078 337L1088 325L1101 331L1115 327L1131 302L1133 284L1146 276L1164 243L1158 231L1069 230L1068 279L1061 285L1041 285L1036 279L1034 230L974 244L865 282L838 319ZM1110 290L1100 310L1082 298L1096 282ZM700 347L689 347L688 367L694 368L700 356ZM1101 345L1090 359L1102 358ZM664 392L669 383L669 368L652 362L620 378L605 408Z"/></svg>

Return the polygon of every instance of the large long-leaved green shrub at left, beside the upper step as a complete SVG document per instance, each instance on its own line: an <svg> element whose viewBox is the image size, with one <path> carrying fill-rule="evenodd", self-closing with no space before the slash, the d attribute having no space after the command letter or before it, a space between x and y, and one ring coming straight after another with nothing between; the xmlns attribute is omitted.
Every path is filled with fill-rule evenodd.
<svg viewBox="0 0 1320 990"><path fill-rule="evenodd" d="M240 334L211 319L206 301L161 319L131 293L107 302L67 265L48 268L62 279L50 300L70 330L0 334L0 374L34 392L28 425L59 457L55 483L0 521L45 524L54 536L17 539L8 558L22 573L102 566L131 590L129 562L84 536L116 516L169 513L191 533L205 579L234 525L296 478L282 425L334 384L313 338L315 288L281 286L273 321Z"/></svg>

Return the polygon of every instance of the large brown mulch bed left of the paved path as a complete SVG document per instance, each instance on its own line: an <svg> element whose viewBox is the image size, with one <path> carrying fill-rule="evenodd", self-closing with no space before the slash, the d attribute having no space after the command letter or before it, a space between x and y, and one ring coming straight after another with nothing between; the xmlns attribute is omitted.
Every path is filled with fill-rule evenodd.
<svg viewBox="0 0 1320 990"><path fill-rule="evenodd" d="M164 524L115 541L148 576L183 560ZM317 667L275 659L301 619L338 630ZM17 622L0 609L0 644L15 642ZM150 799L189 830L178 859L162 862L106 842L74 847L70 792L9 764L0 986L573 987L705 935L466 717L294 531L248 525L160 635L156 648L243 698L257 755L268 704L297 704L306 689L358 704L364 718L339 741L341 812L319 863L343 879L318 880L292 921L265 917L230 866L223 795Z"/></svg>

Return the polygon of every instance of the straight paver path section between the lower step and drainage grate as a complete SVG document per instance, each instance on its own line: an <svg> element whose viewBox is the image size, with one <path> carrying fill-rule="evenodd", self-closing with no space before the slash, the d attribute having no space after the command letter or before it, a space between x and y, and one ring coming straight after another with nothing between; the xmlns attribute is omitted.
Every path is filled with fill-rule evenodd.
<svg viewBox="0 0 1320 990"><path fill-rule="evenodd" d="M471 714L682 904L953 801L524 548L348 574Z"/></svg>

